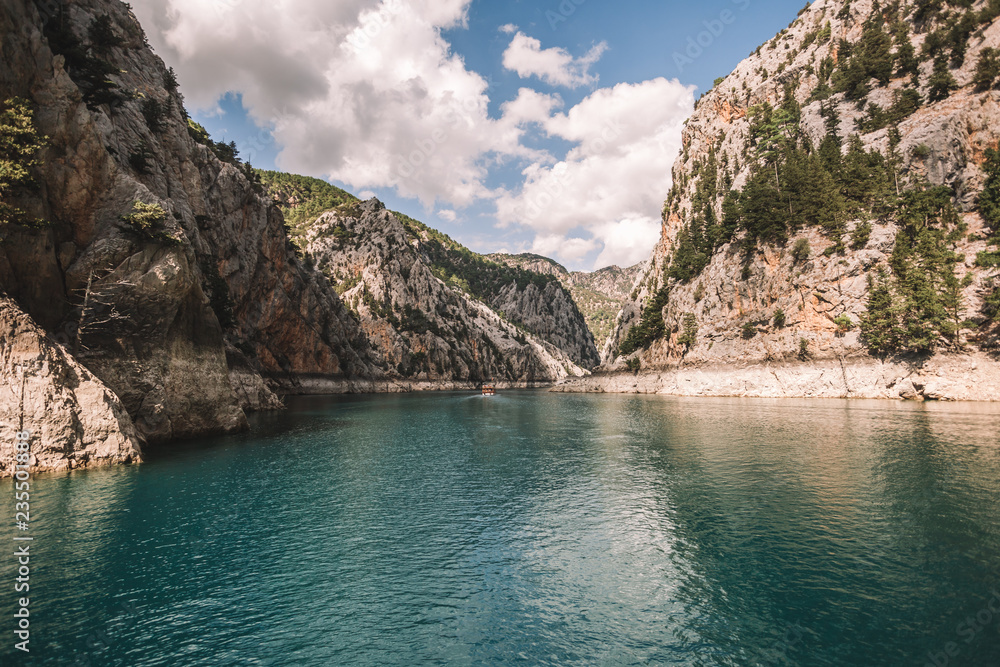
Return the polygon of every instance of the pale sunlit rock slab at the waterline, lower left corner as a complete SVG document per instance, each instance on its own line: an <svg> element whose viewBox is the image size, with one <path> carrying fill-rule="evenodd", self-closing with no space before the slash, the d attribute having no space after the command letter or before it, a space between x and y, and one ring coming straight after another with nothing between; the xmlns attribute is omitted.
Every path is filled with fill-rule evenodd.
<svg viewBox="0 0 1000 667"><path fill-rule="evenodd" d="M142 437L104 383L0 298L0 477L15 471L16 434L31 433L32 471L142 459Z"/></svg>

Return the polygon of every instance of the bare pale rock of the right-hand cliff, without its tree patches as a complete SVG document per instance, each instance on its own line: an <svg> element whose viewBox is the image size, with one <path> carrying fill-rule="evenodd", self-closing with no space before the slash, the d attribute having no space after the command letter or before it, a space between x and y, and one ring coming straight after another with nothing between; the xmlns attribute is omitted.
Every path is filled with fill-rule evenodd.
<svg viewBox="0 0 1000 667"><path fill-rule="evenodd" d="M951 34L949 26L954 23L947 22L947 11L956 12L955 22L967 11L946 10L943 17L924 17L921 22L916 3L900 5L890 17L887 7L876 13L873 3L866 0L814 2L699 101L684 130L683 153L674 166L674 188L664 207L661 240L602 350L606 370L622 369L626 361L655 372L689 365L725 367L796 359L817 363L850 357L865 364L870 359L856 325L867 311L868 277L882 269L891 275L889 260L901 228L897 213L848 219L838 234L807 224L791 229L787 244L755 244L738 229L732 241L716 248L693 278L668 275L682 237L690 233L696 215L701 216L699 207L706 199L712 217L722 221L727 214L723 206L727 192L742 190L756 169L771 168L757 125L760 116L755 116L765 104L774 109L800 107L796 126L785 131L801 134L803 143L808 140L819 147L834 119L832 125L845 154L850 137L856 135L864 150L880 152L887 162L897 160L893 176L903 194L925 180L954 191L959 219L953 229L961 233L949 241L948 250L962 259L954 271L962 300L956 319L977 320L995 270L975 263L977 254L989 245L989 232L975 211L975 202L984 182L984 151L995 148L1000 138L1000 93L977 90L972 79L983 50L1000 43L1000 25L995 18L988 19L960 38L959 44L964 45L961 65L944 49L938 60L943 58L956 88L946 92L944 99L901 113L898 135L893 136L893 123L874 129L881 123L871 121L872 105L878 106L876 111L889 112L907 89L916 90L927 101L935 63L924 46L941 34ZM987 3L977 2L968 11L986 8ZM845 66L845 53L852 48L863 51L859 44L866 29L878 28L886 17L894 21L887 22L897 35L904 35L914 48L919 86L914 87L912 74L898 71L902 60L896 55L903 38L897 36L891 38L895 40L893 74L884 85L862 77L871 90L856 95L860 99L847 99L843 92L820 94L821 86L830 85L829 70L824 78L824 69ZM888 27L881 29L889 33ZM789 94L794 104L788 103ZM717 170L711 177L718 186L706 192L702 184L708 178L709 164ZM866 223L871 224L869 233L855 233L867 229ZM798 253L793 252L796 246ZM654 321L655 313L649 310L659 306L662 333L648 337L647 343L653 340L642 349L621 355L623 342L643 321L643 312L647 311L648 321ZM846 327L845 318L850 321ZM686 327L686 322L694 328ZM966 328L961 337L967 349L986 344L983 330L975 326ZM949 344L941 339L938 347ZM919 367L921 361L916 363Z"/></svg>

